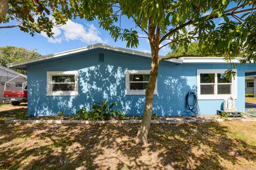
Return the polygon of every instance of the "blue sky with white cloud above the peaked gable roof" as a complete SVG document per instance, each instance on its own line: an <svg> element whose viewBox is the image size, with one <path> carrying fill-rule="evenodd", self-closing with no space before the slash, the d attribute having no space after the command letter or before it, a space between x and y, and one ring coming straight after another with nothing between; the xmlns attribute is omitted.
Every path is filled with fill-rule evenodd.
<svg viewBox="0 0 256 170"><path fill-rule="evenodd" d="M11 22L6 25L12 25L15 22ZM122 27L133 25L132 21L128 19L122 19ZM0 24L3 25L3 24ZM118 40L115 42L109 32L99 28L98 22L87 22L85 20L76 19L69 21L62 27L56 27L53 29L55 38L47 38L44 33L36 34L31 37L29 33L20 31L19 28L0 29L0 46L17 46L25 47L27 49L37 49L37 52L46 55L64 50L84 47L87 45L102 43L111 46L126 48L126 42ZM139 32L143 35L142 32ZM148 40L140 38L140 45L137 49L142 52L150 53L150 46ZM166 47L161 50L160 55L166 55L170 52L170 48Z"/></svg>

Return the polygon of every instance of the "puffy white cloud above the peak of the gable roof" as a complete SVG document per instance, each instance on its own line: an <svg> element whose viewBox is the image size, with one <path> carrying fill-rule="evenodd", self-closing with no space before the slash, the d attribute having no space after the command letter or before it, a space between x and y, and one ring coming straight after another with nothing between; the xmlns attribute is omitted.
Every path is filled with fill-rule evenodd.
<svg viewBox="0 0 256 170"><path fill-rule="evenodd" d="M106 40L100 37L100 31L93 24L82 25L68 20L65 25L53 27L52 32L54 38L47 37L45 32L41 35L46 37L50 43L61 43L63 40L81 40L88 44L106 43Z"/></svg>

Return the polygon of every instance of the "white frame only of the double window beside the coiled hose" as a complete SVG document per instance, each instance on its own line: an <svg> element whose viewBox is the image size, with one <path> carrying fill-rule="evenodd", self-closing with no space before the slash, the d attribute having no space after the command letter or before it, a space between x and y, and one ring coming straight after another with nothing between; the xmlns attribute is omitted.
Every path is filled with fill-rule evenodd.
<svg viewBox="0 0 256 170"><path fill-rule="evenodd" d="M233 69L236 72L235 78L231 78L231 94L218 95L218 77L217 74L224 74L227 69L197 69L197 98L198 100L219 100L226 99L229 96L237 99L237 69ZM200 84L213 84L213 83L200 83L200 74L215 74L214 80L214 94L213 95L201 95ZM221 83L230 84L230 83Z"/></svg>

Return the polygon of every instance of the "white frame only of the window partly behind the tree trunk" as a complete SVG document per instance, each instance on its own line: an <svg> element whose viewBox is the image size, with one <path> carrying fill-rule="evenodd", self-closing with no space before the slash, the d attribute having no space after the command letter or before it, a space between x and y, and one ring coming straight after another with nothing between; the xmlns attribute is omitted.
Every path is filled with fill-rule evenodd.
<svg viewBox="0 0 256 170"><path fill-rule="evenodd" d="M130 74L150 74L150 70L126 70L125 71L125 95L146 95L146 90L130 90ZM148 81L137 81L148 82ZM157 95L157 80L154 95Z"/></svg>

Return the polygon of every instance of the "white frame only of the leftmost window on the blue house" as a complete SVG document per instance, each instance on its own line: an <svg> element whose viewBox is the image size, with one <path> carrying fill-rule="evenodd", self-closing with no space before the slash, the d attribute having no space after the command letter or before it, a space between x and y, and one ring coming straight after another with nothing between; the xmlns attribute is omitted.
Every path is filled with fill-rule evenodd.
<svg viewBox="0 0 256 170"><path fill-rule="evenodd" d="M52 75L75 75L75 90L52 91ZM47 71L47 96L78 96L78 71Z"/></svg>

